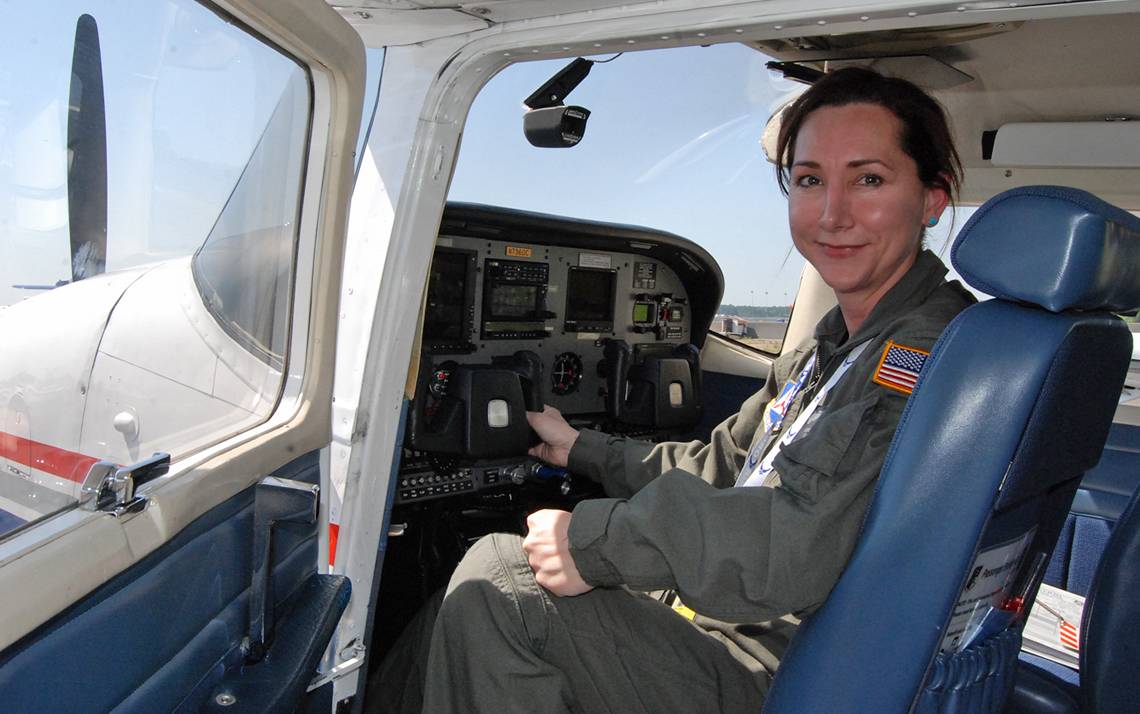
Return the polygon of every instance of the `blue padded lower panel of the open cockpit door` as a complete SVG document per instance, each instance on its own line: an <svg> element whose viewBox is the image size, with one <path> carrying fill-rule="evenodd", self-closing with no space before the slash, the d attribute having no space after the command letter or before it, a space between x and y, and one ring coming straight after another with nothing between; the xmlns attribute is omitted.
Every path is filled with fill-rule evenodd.
<svg viewBox="0 0 1140 714"><path fill-rule="evenodd" d="M319 478L317 454L277 474ZM169 712L196 708L246 632L253 550L249 488L0 656L6 711ZM282 526L274 597L317 563L316 526ZM196 700L196 701L195 701Z"/></svg>

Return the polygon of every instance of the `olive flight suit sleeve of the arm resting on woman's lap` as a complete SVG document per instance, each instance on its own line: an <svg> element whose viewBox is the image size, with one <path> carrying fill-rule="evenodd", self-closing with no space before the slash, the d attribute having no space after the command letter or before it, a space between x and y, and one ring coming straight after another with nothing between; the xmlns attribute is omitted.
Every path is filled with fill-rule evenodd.
<svg viewBox="0 0 1140 714"><path fill-rule="evenodd" d="M671 469L628 500L579 503L570 552L581 576L595 586L675 589L727 622L817 608L854 550L906 404L869 373L856 379L857 398L825 409L776 456L777 487L716 489Z"/></svg>

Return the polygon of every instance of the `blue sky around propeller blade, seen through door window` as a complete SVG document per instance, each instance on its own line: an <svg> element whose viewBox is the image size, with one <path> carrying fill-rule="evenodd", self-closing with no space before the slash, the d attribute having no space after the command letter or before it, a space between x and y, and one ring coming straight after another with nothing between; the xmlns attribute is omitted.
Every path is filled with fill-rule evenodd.
<svg viewBox="0 0 1140 714"><path fill-rule="evenodd" d="M71 277L67 104L76 19L99 33L107 269L193 252L290 78L291 59L192 0L0 0L0 306Z"/></svg>

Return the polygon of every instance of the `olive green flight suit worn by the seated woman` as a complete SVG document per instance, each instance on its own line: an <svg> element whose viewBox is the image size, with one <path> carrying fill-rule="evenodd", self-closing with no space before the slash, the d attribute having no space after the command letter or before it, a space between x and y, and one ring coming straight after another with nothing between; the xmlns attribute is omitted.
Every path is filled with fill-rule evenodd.
<svg viewBox="0 0 1140 714"><path fill-rule="evenodd" d="M873 380L888 341L928 351L974 301L945 274L920 253L850 339L830 311L708 444L583 431L570 470L611 497L579 503L569 535L597 590L552 595L518 536L480 541L433 623L424 711L757 711L796 616L823 602L854 549L905 406L906 393ZM825 383L864 342L809 429L780 451L775 486L733 488L754 441L779 437L759 428L777 387L816 349ZM813 391L797 395L783 428ZM690 623L627 589L674 589L699 615Z"/></svg>

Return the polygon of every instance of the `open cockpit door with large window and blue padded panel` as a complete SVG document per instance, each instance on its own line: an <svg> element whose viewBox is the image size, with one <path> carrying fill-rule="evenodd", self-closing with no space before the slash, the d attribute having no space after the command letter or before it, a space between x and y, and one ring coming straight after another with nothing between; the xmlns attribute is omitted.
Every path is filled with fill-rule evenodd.
<svg viewBox="0 0 1140 714"><path fill-rule="evenodd" d="M311 576L360 39L310 0L0 14L0 225L93 246L0 307L0 701L291 708L348 598Z"/></svg>

